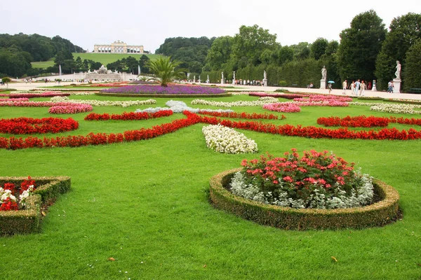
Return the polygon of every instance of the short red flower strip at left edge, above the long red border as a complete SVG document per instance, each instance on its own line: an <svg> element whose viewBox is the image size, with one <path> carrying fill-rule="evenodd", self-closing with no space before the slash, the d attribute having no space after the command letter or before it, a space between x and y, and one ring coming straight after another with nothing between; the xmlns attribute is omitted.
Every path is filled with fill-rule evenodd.
<svg viewBox="0 0 421 280"><path fill-rule="evenodd" d="M0 119L0 132L7 134L44 134L77 130L72 118L10 118Z"/></svg>

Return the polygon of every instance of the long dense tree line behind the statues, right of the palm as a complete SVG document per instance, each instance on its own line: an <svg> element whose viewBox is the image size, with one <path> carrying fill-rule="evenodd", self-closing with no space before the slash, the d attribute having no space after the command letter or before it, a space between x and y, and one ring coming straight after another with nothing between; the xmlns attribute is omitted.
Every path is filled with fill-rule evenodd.
<svg viewBox="0 0 421 280"><path fill-rule="evenodd" d="M206 80L209 76L213 83L220 81L222 71L227 80L233 78L233 71L237 79L262 80L265 70L272 85L305 87L314 83L318 87L321 68L326 66L327 78L335 81L335 87L341 87L345 79L349 83L356 79L377 80L380 90L385 90L387 82L395 78L399 60L403 89L421 87L420 81L415 80L414 68L421 65L421 60L417 60L420 46L416 45L421 40L421 14L394 18L388 31L377 13L368 10L356 15L350 27L342 30L340 42L318 38L312 43L281 45L276 42L276 34L267 29L241 26L234 36L208 39L211 45L202 67L192 64L198 53L197 44L192 42L199 39L206 42L206 37L167 38L156 52L171 55L196 78L200 75L201 80ZM411 63L407 65L408 55ZM203 52L201 57L196 61L203 61Z"/></svg>

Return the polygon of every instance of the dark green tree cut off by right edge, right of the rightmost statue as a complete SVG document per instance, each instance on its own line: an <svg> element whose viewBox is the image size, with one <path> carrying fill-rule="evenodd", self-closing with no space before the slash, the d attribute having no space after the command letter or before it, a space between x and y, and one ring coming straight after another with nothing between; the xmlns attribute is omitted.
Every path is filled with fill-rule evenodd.
<svg viewBox="0 0 421 280"><path fill-rule="evenodd" d="M405 83L403 90L408 92L411 88L421 88L421 39L418 39L406 52L406 64L403 68Z"/></svg>

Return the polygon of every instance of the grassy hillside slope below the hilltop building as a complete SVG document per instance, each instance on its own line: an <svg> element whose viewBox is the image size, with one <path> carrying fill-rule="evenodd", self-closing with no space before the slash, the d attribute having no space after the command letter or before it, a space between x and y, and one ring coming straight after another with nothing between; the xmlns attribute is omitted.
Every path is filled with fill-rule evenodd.
<svg viewBox="0 0 421 280"><path fill-rule="evenodd" d="M149 59L158 59L160 55L148 55L145 54ZM135 59L139 59L142 55L140 54L119 54L119 53L92 53L92 52L85 52L85 53L79 53L79 52L73 52L73 58L76 59L77 57L81 57L82 61L83 59L91 59L95 62L101 62L105 66L107 64L116 62L118 59L123 59L125 57L135 57ZM32 67L34 68L47 68L50 66L54 66L54 59L50 59L46 62L31 62Z"/></svg>

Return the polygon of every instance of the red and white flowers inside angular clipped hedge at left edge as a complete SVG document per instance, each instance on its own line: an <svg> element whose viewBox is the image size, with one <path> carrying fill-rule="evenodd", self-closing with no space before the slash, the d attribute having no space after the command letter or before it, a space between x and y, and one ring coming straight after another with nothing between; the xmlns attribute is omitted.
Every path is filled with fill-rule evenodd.
<svg viewBox="0 0 421 280"><path fill-rule="evenodd" d="M20 189L17 189L14 183L4 183L3 187L0 186L0 211L18 211L25 208L25 202L35 187L36 183L30 176L20 184Z"/></svg>

